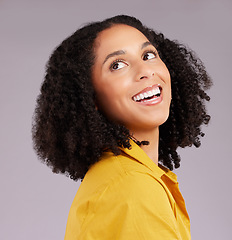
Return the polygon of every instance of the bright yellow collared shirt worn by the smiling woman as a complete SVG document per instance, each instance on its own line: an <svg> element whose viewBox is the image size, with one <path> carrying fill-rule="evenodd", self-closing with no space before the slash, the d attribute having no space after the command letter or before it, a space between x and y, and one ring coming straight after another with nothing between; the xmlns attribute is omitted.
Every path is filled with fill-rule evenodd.
<svg viewBox="0 0 232 240"><path fill-rule="evenodd" d="M65 240L189 240L190 223L176 175L157 166L133 141L106 152L83 179Z"/></svg>

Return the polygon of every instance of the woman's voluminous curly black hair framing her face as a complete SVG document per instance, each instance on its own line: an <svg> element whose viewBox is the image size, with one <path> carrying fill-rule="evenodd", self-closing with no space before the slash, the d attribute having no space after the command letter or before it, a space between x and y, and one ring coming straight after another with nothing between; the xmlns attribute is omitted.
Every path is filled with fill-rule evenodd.
<svg viewBox="0 0 232 240"><path fill-rule="evenodd" d="M141 31L156 47L172 81L168 120L160 126L159 162L170 170L180 166L178 147L200 146L202 124L208 124L205 93L211 85L201 60L184 45L144 26L138 19L119 15L90 23L65 39L52 53L33 116L32 137L39 158L55 173L82 179L103 151L120 154L130 148L130 132L109 121L95 107L91 80L94 43L98 34L115 24ZM146 144L146 142L145 142Z"/></svg>

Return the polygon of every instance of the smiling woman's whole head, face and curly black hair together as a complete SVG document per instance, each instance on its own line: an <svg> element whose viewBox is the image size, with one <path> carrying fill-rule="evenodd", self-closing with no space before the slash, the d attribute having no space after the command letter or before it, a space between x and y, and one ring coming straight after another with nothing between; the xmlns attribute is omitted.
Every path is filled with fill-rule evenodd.
<svg viewBox="0 0 232 240"><path fill-rule="evenodd" d="M179 167L177 147L198 146L200 126L209 121L204 89L210 84L190 50L139 20L91 23L49 59L34 117L35 149L55 172L78 179L106 149L129 148L131 130L160 126L160 161ZM144 89L165 93L162 109L153 101L144 110L137 98Z"/></svg>

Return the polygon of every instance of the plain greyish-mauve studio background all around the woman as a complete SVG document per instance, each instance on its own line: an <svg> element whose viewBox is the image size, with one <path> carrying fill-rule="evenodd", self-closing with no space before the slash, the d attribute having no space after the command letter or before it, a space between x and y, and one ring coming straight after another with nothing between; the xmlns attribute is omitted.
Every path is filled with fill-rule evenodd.
<svg viewBox="0 0 232 240"><path fill-rule="evenodd" d="M231 239L232 1L0 1L1 239L63 239L79 182L52 174L32 149L31 118L51 51L89 21L138 17L187 43L214 81L200 149L180 151L192 238Z"/></svg>

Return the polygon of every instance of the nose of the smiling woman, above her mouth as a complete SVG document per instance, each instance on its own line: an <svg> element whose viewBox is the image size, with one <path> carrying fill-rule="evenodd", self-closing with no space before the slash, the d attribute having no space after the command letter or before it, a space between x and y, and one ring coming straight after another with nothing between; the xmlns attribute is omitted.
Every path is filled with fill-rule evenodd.
<svg viewBox="0 0 232 240"><path fill-rule="evenodd" d="M155 75L154 66L152 67L149 63L143 61L136 67L136 81L150 79Z"/></svg>

